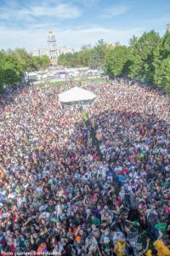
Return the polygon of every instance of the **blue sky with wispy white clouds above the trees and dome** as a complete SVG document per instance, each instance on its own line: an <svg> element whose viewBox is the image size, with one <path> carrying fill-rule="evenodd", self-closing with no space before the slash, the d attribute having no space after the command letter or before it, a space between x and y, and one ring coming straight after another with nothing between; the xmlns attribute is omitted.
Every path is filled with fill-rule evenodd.
<svg viewBox="0 0 170 256"><path fill-rule="evenodd" d="M57 46L81 49L99 39L128 44L133 35L170 23L170 0L0 0L0 49Z"/></svg>

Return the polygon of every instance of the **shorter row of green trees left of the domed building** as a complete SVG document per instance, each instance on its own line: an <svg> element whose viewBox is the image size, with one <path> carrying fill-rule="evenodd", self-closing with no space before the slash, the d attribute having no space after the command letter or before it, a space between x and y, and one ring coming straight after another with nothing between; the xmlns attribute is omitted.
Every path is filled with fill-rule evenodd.
<svg viewBox="0 0 170 256"><path fill-rule="evenodd" d="M0 51L0 91L5 86L20 83L24 73L47 68L50 60L47 55L42 58L32 56L26 49L8 49Z"/></svg>

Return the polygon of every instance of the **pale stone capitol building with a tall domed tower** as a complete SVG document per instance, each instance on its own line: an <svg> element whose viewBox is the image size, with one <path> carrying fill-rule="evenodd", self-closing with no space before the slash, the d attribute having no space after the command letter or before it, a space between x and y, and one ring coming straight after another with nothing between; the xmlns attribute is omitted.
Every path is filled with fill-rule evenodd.
<svg viewBox="0 0 170 256"><path fill-rule="evenodd" d="M59 55L66 53L73 53L74 50L71 47L57 47L56 40L53 31L48 32L48 47L41 49L34 49L32 51L33 56L42 57L42 55L48 55L52 64L57 64Z"/></svg>

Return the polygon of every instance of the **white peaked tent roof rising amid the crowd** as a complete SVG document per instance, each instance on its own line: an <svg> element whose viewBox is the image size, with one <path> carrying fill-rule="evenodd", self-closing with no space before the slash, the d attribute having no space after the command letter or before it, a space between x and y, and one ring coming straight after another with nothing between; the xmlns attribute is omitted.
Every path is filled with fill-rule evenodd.
<svg viewBox="0 0 170 256"><path fill-rule="evenodd" d="M59 94L59 102L82 102L94 100L96 95L90 90L74 87Z"/></svg>

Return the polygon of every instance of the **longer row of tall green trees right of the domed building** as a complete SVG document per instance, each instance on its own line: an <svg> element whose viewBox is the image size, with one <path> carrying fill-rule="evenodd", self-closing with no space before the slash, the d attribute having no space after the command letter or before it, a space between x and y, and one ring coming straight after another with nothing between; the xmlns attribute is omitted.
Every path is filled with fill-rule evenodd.
<svg viewBox="0 0 170 256"><path fill-rule="evenodd" d="M83 47L59 56L59 65L102 68L111 78L126 76L143 80L170 92L170 32L161 37L150 31L129 41L129 46L111 47L100 40L93 48Z"/></svg>

